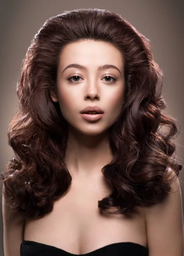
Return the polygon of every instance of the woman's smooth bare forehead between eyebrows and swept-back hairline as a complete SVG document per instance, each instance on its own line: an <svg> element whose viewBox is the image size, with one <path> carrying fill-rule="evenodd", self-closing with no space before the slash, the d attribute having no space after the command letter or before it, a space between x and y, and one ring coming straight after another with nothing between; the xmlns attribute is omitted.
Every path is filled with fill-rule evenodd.
<svg viewBox="0 0 184 256"><path fill-rule="evenodd" d="M90 67L91 65L113 64L123 68L122 52L113 44L105 41L80 40L65 45L59 56L59 66L71 63L81 63Z"/></svg>

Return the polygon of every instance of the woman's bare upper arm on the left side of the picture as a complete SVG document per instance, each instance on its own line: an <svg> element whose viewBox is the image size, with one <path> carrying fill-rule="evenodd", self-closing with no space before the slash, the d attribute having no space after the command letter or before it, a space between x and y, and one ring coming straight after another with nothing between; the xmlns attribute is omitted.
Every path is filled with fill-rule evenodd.
<svg viewBox="0 0 184 256"><path fill-rule="evenodd" d="M4 184L3 184L4 189ZM2 195L3 210L3 246L4 256L20 256L20 244L23 240L24 219L14 218L6 206L6 198Z"/></svg>

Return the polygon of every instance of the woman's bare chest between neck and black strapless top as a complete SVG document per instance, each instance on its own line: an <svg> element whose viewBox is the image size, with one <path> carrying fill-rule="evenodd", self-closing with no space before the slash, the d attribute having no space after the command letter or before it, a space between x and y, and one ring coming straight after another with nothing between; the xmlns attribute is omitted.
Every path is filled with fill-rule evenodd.
<svg viewBox="0 0 184 256"><path fill-rule="evenodd" d="M98 200L110 194L103 181L73 183L54 203L52 212L25 222L24 239L49 244L74 254L88 253L107 244L132 241L147 245L144 214L134 218L108 215Z"/></svg>

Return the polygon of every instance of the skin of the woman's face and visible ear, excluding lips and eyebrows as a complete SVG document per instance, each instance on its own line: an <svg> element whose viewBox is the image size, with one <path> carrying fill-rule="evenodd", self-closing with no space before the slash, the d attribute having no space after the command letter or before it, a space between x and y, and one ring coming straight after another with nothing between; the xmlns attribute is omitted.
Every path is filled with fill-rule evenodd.
<svg viewBox="0 0 184 256"><path fill-rule="evenodd" d="M67 68L68 65L71 67ZM103 65L116 68L98 69ZM82 134L97 135L116 121L123 104L124 89L121 52L107 42L81 40L67 44L62 50L57 70L57 92L52 93L51 98L59 102L69 125ZM101 108L104 111L102 118L97 121L84 119L80 111L88 106Z"/></svg>

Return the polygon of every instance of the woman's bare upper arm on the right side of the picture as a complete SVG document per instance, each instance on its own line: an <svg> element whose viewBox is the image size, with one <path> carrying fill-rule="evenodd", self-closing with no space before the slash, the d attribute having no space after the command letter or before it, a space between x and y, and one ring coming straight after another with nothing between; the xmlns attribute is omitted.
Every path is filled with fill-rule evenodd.
<svg viewBox="0 0 184 256"><path fill-rule="evenodd" d="M145 211L149 256L183 256L184 224L181 188L178 177L164 203Z"/></svg>

